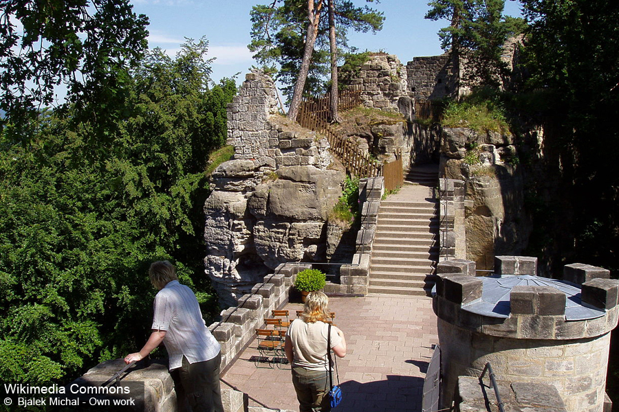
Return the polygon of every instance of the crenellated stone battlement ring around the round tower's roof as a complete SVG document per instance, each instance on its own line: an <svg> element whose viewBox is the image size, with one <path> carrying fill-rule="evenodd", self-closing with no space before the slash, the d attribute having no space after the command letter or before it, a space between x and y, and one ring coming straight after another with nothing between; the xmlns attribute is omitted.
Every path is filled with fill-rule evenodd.
<svg viewBox="0 0 619 412"><path fill-rule="evenodd" d="M535 276L536 268L536 258L495 258L495 275ZM484 292L483 278L475 277L475 262L467 260L448 260L438 264L435 312L439 318L460 328L517 339L590 338L616 327L619 282L609 279L609 271L570 264L565 266L563 279L574 285L580 283L580 301L602 310L602 316L566 319L566 295L552 286L514 286L509 297L509 317L497 318L461 310L462 306L481 299ZM561 286L560 281L555 282Z"/></svg>

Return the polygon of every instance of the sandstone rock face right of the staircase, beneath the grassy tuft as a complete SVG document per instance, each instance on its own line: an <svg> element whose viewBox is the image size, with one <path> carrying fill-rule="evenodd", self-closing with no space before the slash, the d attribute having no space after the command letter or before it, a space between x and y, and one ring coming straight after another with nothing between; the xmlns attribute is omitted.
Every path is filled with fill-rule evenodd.
<svg viewBox="0 0 619 412"><path fill-rule="evenodd" d="M519 254L532 231L512 136L444 128L440 175L465 181L466 258L492 269L494 256Z"/></svg>

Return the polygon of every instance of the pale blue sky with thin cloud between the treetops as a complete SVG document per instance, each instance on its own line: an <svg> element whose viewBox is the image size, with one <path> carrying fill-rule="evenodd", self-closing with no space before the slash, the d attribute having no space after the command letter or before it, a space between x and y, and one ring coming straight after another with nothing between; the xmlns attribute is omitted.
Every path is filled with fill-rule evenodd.
<svg viewBox="0 0 619 412"><path fill-rule="evenodd" d="M208 57L213 62L212 78L217 82L223 77L241 72L239 80L256 63L247 49L250 43L250 10L256 4L270 0L131 0L133 10L149 16L149 46L161 47L173 56L184 38L198 39L206 36L209 41ZM354 0L357 5L365 1ZM369 3L372 5L372 3ZM448 21L428 21L426 0L381 0L373 7L384 12L382 31L377 34L349 35L349 44L370 52L382 50L395 54L406 64L415 56L441 54L437 32ZM519 15L519 3L506 1L505 14Z"/></svg>

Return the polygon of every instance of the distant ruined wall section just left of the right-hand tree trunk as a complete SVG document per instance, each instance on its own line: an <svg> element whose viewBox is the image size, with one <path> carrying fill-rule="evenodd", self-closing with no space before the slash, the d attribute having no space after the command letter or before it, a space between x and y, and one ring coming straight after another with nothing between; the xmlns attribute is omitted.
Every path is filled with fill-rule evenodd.
<svg viewBox="0 0 619 412"><path fill-rule="evenodd" d="M407 87L415 99L440 99L455 91L450 54L413 58L406 63L406 77Z"/></svg>

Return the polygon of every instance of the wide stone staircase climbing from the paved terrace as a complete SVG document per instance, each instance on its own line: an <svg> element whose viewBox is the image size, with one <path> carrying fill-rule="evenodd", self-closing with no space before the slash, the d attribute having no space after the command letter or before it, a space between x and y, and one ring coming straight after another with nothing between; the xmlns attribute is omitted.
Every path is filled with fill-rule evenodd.
<svg viewBox="0 0 619 412"><path fill-rule="evenodd" d="M427 169L427 170L425 170ZM369 293L426 295L438 261L436 168L406 174L398 194L380 202L372 248Z"/></svg>

